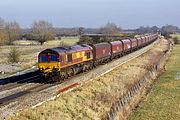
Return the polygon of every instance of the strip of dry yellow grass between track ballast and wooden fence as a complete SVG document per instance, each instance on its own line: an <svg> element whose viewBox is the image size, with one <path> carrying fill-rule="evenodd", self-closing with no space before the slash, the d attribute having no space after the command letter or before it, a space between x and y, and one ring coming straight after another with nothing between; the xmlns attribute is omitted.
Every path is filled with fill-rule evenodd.
<svg viewBox="0 0 180 120"><path fill-rule="evenodd" d="M141 57L71 92L61 94L54 101L49 101L36 109L24 110L9 119L100 120L101 116L109 111L116 98L121 97L129 86L147 72L152 57L158 59L162 51L167 49L164 42L167 41L162 40L159 45Z"/></svg>

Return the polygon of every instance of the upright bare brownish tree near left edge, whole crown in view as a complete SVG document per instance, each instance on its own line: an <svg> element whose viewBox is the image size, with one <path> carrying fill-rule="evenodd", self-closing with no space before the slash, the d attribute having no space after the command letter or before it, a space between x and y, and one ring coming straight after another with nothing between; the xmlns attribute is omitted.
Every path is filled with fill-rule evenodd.
<svg viewBox="0 0 180 120"><path fill-rule="evenodd" d="M7 22L5 31L8 39L8 45L12 45L14 40L18 40L21 35L21 28L17 22Z"/></svg>

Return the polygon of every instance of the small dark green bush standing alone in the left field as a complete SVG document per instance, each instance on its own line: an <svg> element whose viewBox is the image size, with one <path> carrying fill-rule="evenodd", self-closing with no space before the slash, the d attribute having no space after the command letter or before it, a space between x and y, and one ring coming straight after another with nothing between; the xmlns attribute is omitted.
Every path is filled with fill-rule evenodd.
<svg viewBox="0 0 180 120"><path fill-rule="evenodd" d="M18 63L20 61L20 52L16 47L10 49L8 61L10 63Z"/></svg>

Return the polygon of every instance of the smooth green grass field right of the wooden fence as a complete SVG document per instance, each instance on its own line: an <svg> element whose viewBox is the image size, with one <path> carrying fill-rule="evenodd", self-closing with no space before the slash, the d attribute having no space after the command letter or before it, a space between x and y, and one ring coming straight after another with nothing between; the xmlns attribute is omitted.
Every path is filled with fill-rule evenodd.
<svg viewBox="0 0 180 120"><path fill-rule="evenodd" d="M180 120L180 45L174 46L166 72L130 120Z"/></svg>

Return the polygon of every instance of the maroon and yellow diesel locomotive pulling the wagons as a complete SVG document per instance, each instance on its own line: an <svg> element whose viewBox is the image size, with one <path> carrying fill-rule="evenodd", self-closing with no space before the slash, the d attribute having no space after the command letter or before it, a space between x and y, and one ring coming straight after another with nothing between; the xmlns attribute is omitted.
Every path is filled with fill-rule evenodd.
<svg viewBox="0 0 180 120"><path fill-rule="evenodd" d="M91 69L92 48L75 45L46 49L39 54L38 67L42 76L61 76L63 79Z"/></svg>

